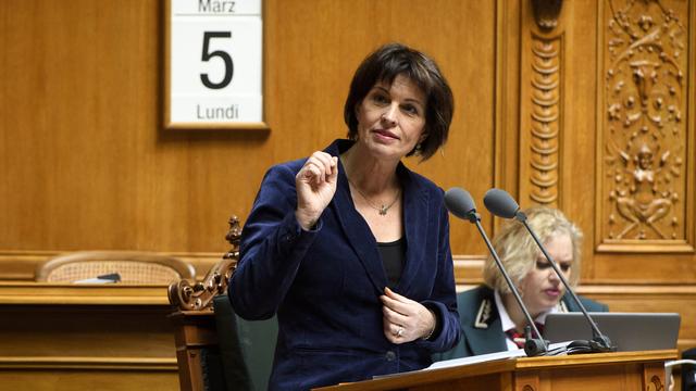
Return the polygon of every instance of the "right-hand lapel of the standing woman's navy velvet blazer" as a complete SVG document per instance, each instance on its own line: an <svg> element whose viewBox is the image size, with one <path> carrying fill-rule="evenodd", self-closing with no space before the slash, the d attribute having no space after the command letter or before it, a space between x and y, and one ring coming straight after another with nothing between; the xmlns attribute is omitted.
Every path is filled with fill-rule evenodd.
<svg viewBox="0 0 696 391"><path fill-rule="evenodd" d="M397 290L408 295L410 286L418 277L418 270L425 257L428 223L428 193L425 187L413 180L412 174L399 163L397 175L403 186L403 228L406 235L406 265ZM433 245L431 243L431 245ZM437 245L437 244L434 244Z"/></svg>

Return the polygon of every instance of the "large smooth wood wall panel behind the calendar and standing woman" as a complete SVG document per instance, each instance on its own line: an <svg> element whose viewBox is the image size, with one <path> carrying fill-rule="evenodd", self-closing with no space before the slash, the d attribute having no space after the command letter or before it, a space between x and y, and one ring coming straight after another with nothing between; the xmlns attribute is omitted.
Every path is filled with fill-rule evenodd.
<svg viewBox="0 0 696 391"><path fill-rule="evenodd" d="M224 252L227 216L245 220L268 167L346 134L352 72L391 40L433 55L457 99L444 154L408 164L443 188L492 187L496 3L266 0L266 133L161 129L162 4L0 3L3 258ZM472 234L452 223L455 253L484 252Z"/></svg>

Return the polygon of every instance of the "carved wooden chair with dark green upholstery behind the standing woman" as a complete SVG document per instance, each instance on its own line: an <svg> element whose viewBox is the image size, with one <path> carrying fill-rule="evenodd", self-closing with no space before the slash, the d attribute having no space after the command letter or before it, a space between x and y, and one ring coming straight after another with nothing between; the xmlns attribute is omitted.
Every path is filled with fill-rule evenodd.
<svg viewBox="0 0 696 391"><path fill-rule="evenodd" d="M182 390L265 390L273 366L277 321L238 317L227 297L227 281L239 258L241 228L229 219L232 249L202 281L170 286L176 312L176 360Z"/></svg>

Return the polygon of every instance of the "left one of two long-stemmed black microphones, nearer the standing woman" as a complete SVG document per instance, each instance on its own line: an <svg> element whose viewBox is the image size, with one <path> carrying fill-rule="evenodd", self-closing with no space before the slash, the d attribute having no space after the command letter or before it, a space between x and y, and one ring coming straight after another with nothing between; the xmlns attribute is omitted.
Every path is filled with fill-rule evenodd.
<svg viewBox="0 0 696 391"><path fill-rule="evenodd" d="M483 226L481 226L481 215L476 213L476 205L474 204L474 200L471 198L471 194L469 194L469 192L464 189L451 188L445 192L445 206L455 216L469 220L470 223L475 224L476 228L478 228L478 232L481 234L484 242L486 242L486 247L488 247L490 255L493 255L496 265L498 265L502 277L508 283L508 287L510 287L515 301L520 305L520 308L522 308L524 317L526 318L527 326L524 328L524 353L530 357L545 355L548 351L547 341L542 338L542 333L536 328L536 325L534 324L530 312L526 310L524 303L522 302L520 292L518 292L514 283L512 283L512 279L510 279L508 270L506 270L505 266L502 266L502 262L500 262L498 253L496 253L496 250L493 248L493 244L490 244L490 240L483 229ZM532 328L534 329L537 338L532 337Z"/></svg>

